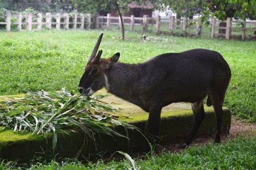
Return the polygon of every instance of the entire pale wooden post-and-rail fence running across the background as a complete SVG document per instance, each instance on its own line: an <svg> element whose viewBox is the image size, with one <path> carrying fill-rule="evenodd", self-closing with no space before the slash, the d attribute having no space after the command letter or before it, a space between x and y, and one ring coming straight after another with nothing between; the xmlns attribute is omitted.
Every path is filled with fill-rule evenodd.
<svg viewBox="0 0 256 170"><path fill-rule="evenodd" d="M25 29L27 31L44 29L90 29L92 27L92 15L83 13L26 13L22 15L21 12L12 14L10 11L5 13L5 21L0 22L1 25L5 25L6 31L17 29L21 31ZM142 31L167 31L171 34L180 32L180 34L188 34L193 36L201 36L202 32L209 29L209 37L214 38L216 36L225 37L230 39L233 37L255 38L256 34L256 21L245 22L241 20L232 20L227 18L226 21L217 20L211 18L210 24L202 25L200 18L188 19L171 17L123 17L124 25L131 31L134 31L134 27L140 26ZM220 26L220 23L224 23L224 27ZM112 25L118 25L121 27L120 17L112 17L109 13L107 16L95 17L95 28L111 29ZM221 33L225 32L225 34ZM207 32L207 34L208 34ZM234 34L232 34L234 32Z"/></svg>

